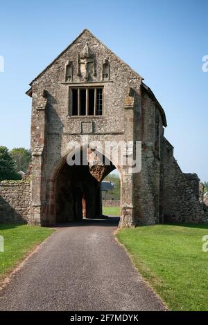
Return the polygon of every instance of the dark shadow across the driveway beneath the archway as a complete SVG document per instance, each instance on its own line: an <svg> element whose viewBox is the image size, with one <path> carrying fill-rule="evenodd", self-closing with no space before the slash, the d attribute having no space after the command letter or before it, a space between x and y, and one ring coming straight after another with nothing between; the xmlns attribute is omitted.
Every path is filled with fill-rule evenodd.
<svg viewBox="0 0 208 325"><path fill-rule="evenodd" d="M119 216L109 216L107 219L83 219L82 221L76 221L70 223L57 223L55 225L55 228L78 227L78 226L118 227L119 221L120 221Z"/></svg>

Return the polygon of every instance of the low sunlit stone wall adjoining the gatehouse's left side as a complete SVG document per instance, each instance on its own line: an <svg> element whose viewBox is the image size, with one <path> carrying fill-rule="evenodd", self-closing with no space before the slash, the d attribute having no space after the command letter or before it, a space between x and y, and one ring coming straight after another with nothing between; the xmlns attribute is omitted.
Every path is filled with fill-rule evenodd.
<svg viewBox="0 0 208 325"><path fill-rule="evenodd" d="M27 223L30 207L30 180L0 182L0 223Z"/></svg>

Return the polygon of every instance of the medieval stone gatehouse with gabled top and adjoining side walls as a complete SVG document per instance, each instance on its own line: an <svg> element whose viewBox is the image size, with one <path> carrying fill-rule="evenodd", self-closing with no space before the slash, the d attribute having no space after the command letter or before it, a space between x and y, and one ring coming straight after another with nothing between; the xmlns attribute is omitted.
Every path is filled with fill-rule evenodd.
<svg viewBox="0 0 208 325"><path fill-rule="evenodd" d="M102 214L101 181L115 168L121 178L121 226L205 222L198 176L182 173L164 137L164 109L141 75L89 30L31 82L26 94L32 98L31 175L19 183L1 182L1 222L53 225L96 218ZM70 145L86 137L103 145L132 142L132 155L139 141L141 171L133 173L105 153L90 161L95 147ZM70 166L67 158L78 152L88 164Z"/></svg>

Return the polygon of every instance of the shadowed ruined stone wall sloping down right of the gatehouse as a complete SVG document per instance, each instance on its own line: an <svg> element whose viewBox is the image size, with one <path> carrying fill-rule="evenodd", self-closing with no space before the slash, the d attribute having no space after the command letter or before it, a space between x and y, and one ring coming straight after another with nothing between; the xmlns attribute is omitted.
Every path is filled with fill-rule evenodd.
<svg viewBox="0 0 208 325"><path fill-rule="evenodd" d="M196 195L196 190L190 184L190 179L183 174L173 157L173 147L162 139L162 193L160 208L164 222L198 223L205 222L202 204ZM190 178L190 177L189 177Z"/></svg>

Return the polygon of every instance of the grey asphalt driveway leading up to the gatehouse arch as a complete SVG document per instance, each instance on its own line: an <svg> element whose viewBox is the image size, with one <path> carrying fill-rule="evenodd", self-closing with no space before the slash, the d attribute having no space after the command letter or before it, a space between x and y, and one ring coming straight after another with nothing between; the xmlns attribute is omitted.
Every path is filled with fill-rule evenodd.
<svg viewBox="0 0 208 325"><path fill-rule="evenodd" d="M117 223L59 227L0 292L0 310L164 310L116 243Z"/></svg>

